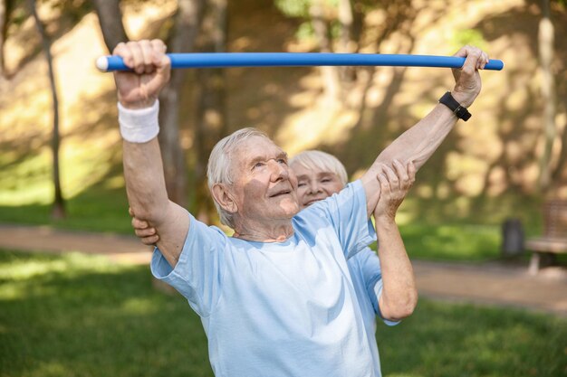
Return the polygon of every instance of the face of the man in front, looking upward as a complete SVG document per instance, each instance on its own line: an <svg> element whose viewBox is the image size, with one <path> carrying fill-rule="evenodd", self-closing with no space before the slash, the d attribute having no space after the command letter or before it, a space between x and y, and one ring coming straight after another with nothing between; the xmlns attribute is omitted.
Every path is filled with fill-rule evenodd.
<svg viewBox="0 0 567 377"><path fill-rule="evenodd" d="M299 212L297 179L287 155L266 137L251 137L233 154L235 203L240 217L282 221Z"/></svg>

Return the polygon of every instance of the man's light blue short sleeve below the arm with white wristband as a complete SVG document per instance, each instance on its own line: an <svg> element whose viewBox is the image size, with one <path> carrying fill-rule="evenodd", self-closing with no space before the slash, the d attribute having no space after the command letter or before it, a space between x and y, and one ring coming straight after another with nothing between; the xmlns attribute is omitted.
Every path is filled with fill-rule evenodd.
<svg viewBox="0 0 567 377"><path fill-rule="evenodd" d="M155 278L175 287L199 316L208 316L220 297L226 235L189 216L189 231L175 269L158 248L151 259Z"/></svg>

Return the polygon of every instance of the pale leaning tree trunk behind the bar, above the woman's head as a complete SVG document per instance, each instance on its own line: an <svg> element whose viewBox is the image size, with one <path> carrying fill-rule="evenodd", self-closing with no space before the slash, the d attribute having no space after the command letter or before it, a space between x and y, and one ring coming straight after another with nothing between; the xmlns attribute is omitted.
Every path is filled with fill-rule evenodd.
<svg viewBox="0 0 567 377"><path fill-rule="evenodd" d="M324 17L324 5L322 0L313 0L309 13L317 41L321 52L332 52L331 38L329 37L329 27ZM325 97L332 101L338 100L341 96L341 81L339 80L339 70L337 67L321 67L323 88Z"/></svg>

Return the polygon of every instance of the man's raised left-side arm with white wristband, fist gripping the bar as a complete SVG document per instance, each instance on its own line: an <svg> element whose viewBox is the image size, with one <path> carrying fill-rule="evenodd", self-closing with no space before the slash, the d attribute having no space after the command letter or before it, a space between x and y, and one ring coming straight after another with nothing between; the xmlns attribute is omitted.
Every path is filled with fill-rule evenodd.
<svg viewBox="0 0 567 377"><path fill-rule="evenodd" d="M170 61L159 40L120 43L119 55L133 71L114 73L120 134L131 212L159 232L158 247L172 267L189 229L187 213L168 200L158 143L159 92L169 80Z"/></svg>

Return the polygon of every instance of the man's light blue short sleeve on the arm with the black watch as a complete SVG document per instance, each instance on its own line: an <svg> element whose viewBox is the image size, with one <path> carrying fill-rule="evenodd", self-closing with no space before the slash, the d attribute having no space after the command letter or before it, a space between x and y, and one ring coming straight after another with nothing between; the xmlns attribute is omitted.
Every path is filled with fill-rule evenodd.
<svg viewBox="0 0 567 377"><path fill-rule="evenodd" d="M313 210L324 211L332 222L347 259L376 240L376 231L366 209L366 193L360 180L347 184L340 193L314 203L312 207Z"/></svg>

